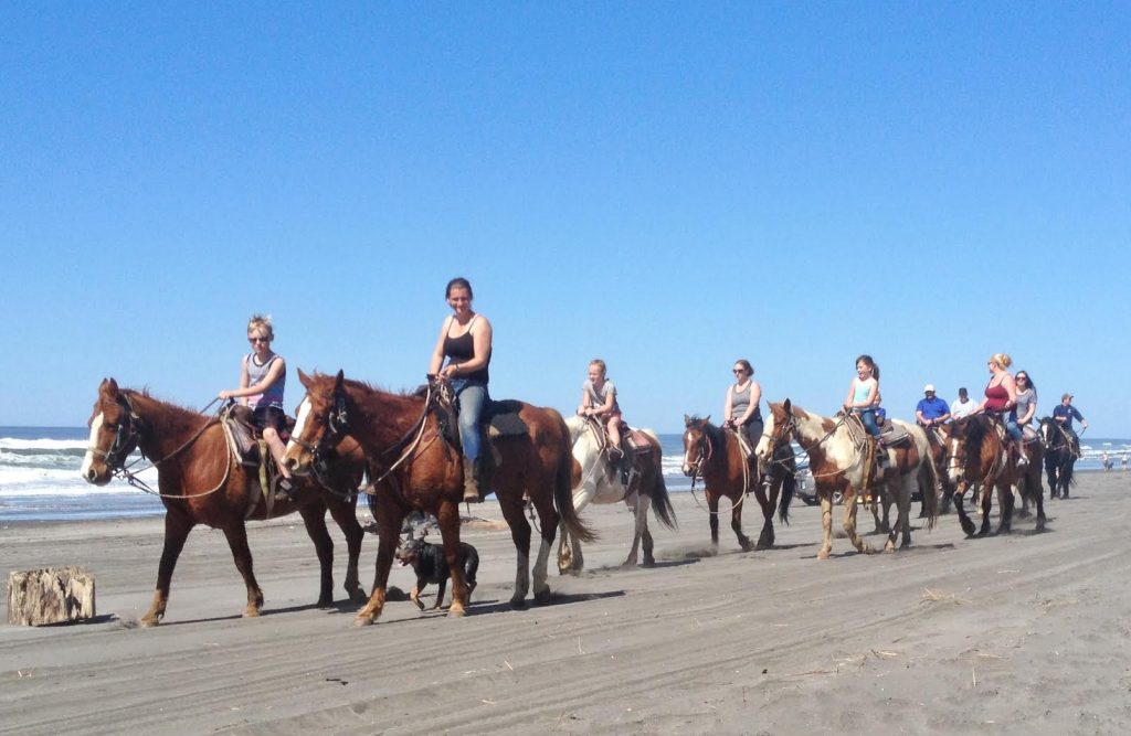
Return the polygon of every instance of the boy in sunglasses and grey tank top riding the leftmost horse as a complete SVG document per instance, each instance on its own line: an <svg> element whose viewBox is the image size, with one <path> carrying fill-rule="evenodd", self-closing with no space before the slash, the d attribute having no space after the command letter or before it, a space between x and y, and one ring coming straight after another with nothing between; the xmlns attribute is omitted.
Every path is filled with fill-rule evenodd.
<svg viewBox="0 0 1131 736"><path fill-rule="evenodd" d="M251 353L243 356L240 366L240 388L217 393L221 399L240 399L251 409L252 422L264 435L275 467L279 475L279 490L291 495L291 473L283 465L286 445L279 433L283 431L283 389L286 387L286 361L271 350L275 327L266 314L252 314L248 320L248 343Z"/></svg>

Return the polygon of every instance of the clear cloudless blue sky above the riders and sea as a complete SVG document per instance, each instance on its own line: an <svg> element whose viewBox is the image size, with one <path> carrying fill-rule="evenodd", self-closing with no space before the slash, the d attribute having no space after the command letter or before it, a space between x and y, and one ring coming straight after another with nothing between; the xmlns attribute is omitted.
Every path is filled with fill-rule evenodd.
<svg viewBox="0 0 1131 736"><path fill-rule="evenodd" d="M477 5L477 3L475 3ZM466 276L491 390L722 412L739 357L909 417L1011 354L1131 436L1126 3L5 3L0 424L115 376L202 406L250 313L423 379Z"/></svg>

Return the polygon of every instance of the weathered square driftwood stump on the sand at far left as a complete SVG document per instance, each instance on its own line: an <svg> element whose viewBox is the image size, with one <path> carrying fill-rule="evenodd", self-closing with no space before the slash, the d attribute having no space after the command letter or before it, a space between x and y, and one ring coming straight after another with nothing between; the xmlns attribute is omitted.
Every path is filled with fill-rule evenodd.
<svg viewBox="0 0 1131 736"><path fill-rule="evenodd" d="M8 573L8 623L25 626L94 618L94 575L83 568Z"/></svg>

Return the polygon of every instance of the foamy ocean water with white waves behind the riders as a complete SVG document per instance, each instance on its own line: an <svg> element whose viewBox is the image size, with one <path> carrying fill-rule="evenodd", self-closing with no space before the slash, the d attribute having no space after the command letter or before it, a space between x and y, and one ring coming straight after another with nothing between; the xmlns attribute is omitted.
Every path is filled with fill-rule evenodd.
<svg viewBox="0 0 1131 736"><path fill-rule="evenodd" d="M89 432L86 427L0 426L0 525L7 521L67 521L121 517L161 516L161 499L133 488L123 480L96 487L79 476ZM664 478L672 492L691 487L680 466L683 440L680 434L661 434ZM1078 470L1100 470L1107 452L1122 470L1120 460L1131 456L1131 440L1088 438L1081 441L1083 457ZM131 462L147 464L135 454ZM157 471L144 470L139 477L150 487L157 485Z"/></svg>

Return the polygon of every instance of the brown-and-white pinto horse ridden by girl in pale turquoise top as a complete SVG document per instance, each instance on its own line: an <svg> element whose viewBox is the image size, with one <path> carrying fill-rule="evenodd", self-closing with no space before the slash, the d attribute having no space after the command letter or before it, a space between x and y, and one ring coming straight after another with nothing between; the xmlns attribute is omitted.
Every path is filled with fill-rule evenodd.
<svg viewBox="0 0 1131 736"><path fill-rule="evenodd" d="M830 419L809 414L786 399L782 404L770 404L770 416L766 421L765 433L758 442L758 457L763 460L779 447L788 447L791 436L809 454L809 468L813 474L817 495L821 500L823 539L817 553L818 560L828 560L832 551L834 492L840 491L844 495L844 529L848 539L858 552L871 554L872 547L856 532L856 494L873 483L887 485L899 508L899 520L884 544L884 549L890 552L896 548L896 537L900 532L903 544L906 546L910 543L910 484L918 479L924 465L927 466L927 474L931 477L934 473L930 450L925 447L926 438L910 432L913 428L910 425L899 423L908 428L913 441L886 448L888 471L878 475L879 468L870 461L866 448L857 445L845 422L846 417ZM934 486L935 484L930 482L929 487L922 488L925 501L938 497ZM938 506L929 501L927 528L934 527L936 513Z"/></svg>

